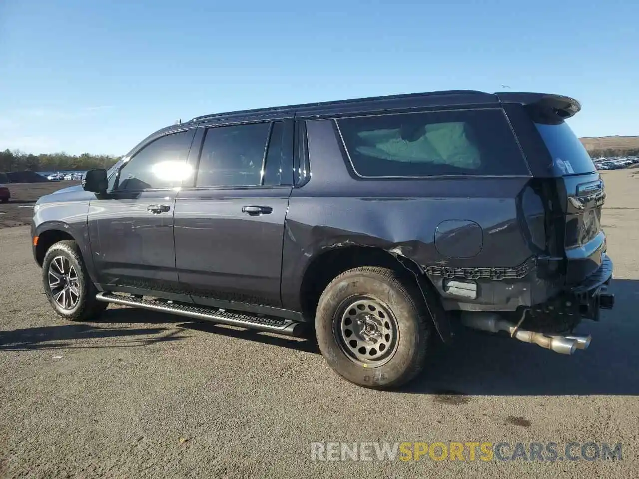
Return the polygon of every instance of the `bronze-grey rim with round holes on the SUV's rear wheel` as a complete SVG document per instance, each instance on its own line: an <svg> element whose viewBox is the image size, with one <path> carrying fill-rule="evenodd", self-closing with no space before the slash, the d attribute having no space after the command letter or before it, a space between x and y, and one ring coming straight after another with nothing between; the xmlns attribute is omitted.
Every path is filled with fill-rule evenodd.
<svg viewBox="0 0 639 479"><path fill-rule="evenodd" d="M397 321L389 308L373 298L353 298L342 311L335 336L343 352L367 367L389 361L399 340Z"/></svg>

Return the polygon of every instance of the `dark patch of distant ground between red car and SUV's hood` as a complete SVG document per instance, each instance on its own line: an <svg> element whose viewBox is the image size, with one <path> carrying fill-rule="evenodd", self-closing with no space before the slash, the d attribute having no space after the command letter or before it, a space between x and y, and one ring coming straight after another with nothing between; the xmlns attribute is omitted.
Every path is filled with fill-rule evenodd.
<svg viewBox="0 0 639 479"><path fill-rule="evenodd" d="M67 186L79 185L79 181L50 181L49 183L9 183L11 199L0 203L0 229L31 224L33 205L43 195Z"/></svg>

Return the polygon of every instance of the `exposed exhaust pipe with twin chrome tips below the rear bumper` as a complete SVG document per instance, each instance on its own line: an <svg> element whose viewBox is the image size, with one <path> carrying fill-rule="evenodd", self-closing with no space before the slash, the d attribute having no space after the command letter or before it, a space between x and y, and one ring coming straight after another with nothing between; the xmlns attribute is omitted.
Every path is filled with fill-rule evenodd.
<svg viewBox="0 0 639 479"><path fill-rule="evenodd" d="M590 345L590 336L557 336L520 330L516 324L501 319L497 314L463 312L461 323L475 330L497 333L505 331L520 341L537 344L559 354L573 354L576 349L586 349Z"/></svg>

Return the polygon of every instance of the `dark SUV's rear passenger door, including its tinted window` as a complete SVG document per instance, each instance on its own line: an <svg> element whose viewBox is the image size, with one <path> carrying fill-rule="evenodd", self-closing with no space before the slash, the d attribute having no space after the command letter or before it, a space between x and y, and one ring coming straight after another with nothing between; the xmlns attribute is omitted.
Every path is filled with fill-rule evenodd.
<svg viewBox="0 0 639 479"><path fill-rule="evenodd" d="M174 214L181 288L204 305L279 307L293 121L203 126L197 138L196 179Z"/></svg>

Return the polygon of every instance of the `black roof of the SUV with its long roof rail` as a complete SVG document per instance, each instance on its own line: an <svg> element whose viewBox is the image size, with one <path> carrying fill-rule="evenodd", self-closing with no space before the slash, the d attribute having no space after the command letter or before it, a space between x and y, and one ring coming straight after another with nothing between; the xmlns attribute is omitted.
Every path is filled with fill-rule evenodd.
<svg viewBox="0 0 639 479"><path fill-rule="evenodd" d="M476 90L449 90L431 91L424 93L407 93L403 95L372 96L369 98L354 98L350 100L337 100L332 102L302 103L300 105L286 105L280 107L269 107L252 110L238 110L231 112L220 112L197 116L190 122L213 121L216 119L233 119L241 117L259 116L296 116L304 118L307 116L323 116L327 114L340 114L355 111L365 111L367 109L401 109L410 107L429 106L464 106L464 105L498 105L501 102L530 104L540 101L551 100L553 105L563 105L562 108L569 111L572 116L578 112L580 105L573 98L559 95L548 95L544 93L486 93ZM567 118L565 116L564 118Z"/></svg>

